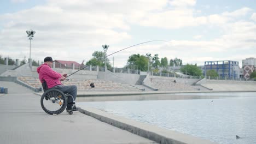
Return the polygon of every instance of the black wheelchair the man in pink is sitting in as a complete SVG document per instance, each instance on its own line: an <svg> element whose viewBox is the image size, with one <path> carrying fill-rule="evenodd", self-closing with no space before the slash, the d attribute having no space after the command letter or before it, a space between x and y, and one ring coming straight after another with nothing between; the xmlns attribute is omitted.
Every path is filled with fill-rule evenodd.
<svg viewBox="0 0 256 144"><path fill-rule="evenodd" d="M73 111L77 111L75 107L75 101L71 94L63 93L60 91L60 89L57 88L50 88L48 89L46 81L42 83L44 93L41 97L40 103L42 106L42 109L48 113L49 115L59 115L62 113L66 107L67 104L67 98L71 97L73 99L73 103L67 110L69 115L73 114Z"/></svg>

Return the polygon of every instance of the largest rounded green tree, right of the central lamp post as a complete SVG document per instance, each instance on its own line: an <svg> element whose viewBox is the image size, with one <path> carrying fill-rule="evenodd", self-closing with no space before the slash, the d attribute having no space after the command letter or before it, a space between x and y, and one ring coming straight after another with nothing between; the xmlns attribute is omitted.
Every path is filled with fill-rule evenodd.
<svg viewBox="0 0 256 144"><path fill-rule="evenodd" d="M143 70L146 71L148 69L148 64L149 64L149 58L144 56L144 55L139 55L139 54L133 54L129 56L129 59L127 60L127 66L132 65L132 66L138 66L138 70Z"/></svg>

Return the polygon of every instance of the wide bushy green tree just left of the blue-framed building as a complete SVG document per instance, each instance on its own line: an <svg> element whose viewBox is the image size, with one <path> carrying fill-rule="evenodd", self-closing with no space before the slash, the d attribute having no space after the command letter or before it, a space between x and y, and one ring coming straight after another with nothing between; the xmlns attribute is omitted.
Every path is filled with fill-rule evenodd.
<svg viewBox="0 0 256 144"><path fill-rule="evenodd" d="M196 76L201 76L202 75L202 70L198 67L196 67L196 65L193 64L187 64L184 65L181 68L181 71L183 74L187 74L187 75L196 75Z"/></svg>

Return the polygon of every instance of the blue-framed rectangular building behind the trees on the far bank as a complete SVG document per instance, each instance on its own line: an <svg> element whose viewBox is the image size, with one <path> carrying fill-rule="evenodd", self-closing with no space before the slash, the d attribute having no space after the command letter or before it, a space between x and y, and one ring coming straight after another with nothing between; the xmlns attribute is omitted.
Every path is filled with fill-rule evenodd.
<svg viewBox="0 0 256 144"><path fill-rule="evenodd" d="M236 61L208 61L205 62L205 75L208 70L216 70L220 79L238 79L240 68Z"/></svg>

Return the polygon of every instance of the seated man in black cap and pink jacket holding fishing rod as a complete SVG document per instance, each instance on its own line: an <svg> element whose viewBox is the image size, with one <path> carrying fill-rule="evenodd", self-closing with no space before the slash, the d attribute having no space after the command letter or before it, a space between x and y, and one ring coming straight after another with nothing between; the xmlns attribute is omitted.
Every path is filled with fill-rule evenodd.
<svg viewBox="0 0 256 144"><path fill-rule="evenodd" d="M37 68L37 73L39 74L39 80L41 83L46 82L46 86L48 89L56 88L60 89L63 93L68 93L72 95L71 97L67 98L67 112L68 111L75 111L77 108L75 107L75 98L77 98L77 86L64 86L62 85L61 81L66 80L67 74L60 74L57 73L52 69L53 67L53 58L45 57L44 63ZM47 90L47 89L45 89ZM73 107L73 109L72 109Z"/></svg>

